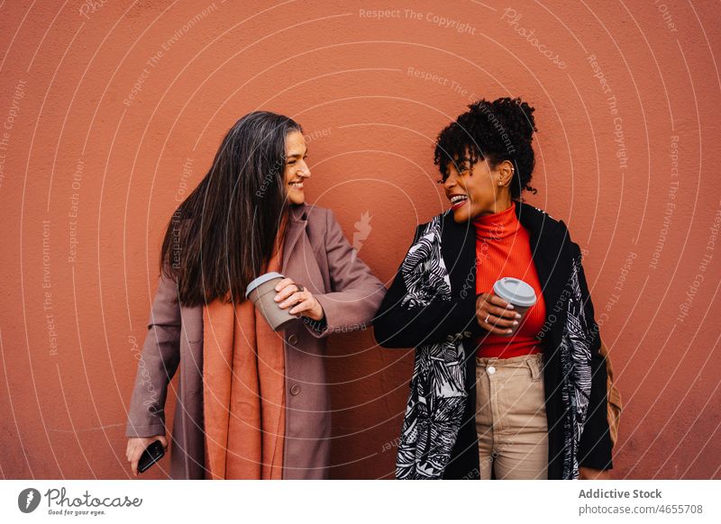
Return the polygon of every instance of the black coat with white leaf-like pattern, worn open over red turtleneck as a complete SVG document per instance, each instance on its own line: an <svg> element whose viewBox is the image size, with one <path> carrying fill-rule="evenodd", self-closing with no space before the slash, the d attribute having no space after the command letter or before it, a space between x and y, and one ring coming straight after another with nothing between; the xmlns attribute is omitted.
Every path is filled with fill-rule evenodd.
<svg viewBox="0 0 721 524"><path fill-rule="evenodd" d="M516 201L543 288L543 377L550 479L610 469L606 365L581 266L562 221ZM373 321L386 348L415 348L397 451L399 479L479 478L475 355L476 236L444 212L421 224ZM466 342L464 343L464 340Z"/></svg>

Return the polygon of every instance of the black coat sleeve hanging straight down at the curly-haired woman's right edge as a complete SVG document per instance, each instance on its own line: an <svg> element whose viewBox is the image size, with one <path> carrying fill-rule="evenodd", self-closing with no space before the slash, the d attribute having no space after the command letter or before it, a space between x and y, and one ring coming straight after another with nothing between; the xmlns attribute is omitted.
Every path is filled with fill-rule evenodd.
<svg viewBox="0 0 721 524"><path fill-rule="evenodd" d="M583 433L580 438L579 465L593 469L613 469L611 460L611 435L608 429L607 419L607 373L606 359L598 349L601 346L600 332L596 317L594 316L593 303L589 293L589 285L586 282L586 275L583 266L580 264L580 248L578 244L572 244L573 257L579 261L579 283L581 296L583 297L584 312L589 327L593 334L591 348L591 394L589 399L589 411L586 414L586 422L583 426Z"/></svg>

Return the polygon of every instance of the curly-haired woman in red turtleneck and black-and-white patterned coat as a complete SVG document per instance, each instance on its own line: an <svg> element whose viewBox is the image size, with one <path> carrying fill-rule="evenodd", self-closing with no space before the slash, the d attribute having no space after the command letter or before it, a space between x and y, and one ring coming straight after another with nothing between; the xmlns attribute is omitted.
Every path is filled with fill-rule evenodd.
<svg viewBox="0 0 721 524"><path fill-rule="evenodd" d="M580 247L521 199L535 193L533 113L480 100L436 140L450 209L417 227L374 321L379 345L415 347L399 479L604 478L613 466ZM502 277L533 287L525 315L493 293Z"/></svg>

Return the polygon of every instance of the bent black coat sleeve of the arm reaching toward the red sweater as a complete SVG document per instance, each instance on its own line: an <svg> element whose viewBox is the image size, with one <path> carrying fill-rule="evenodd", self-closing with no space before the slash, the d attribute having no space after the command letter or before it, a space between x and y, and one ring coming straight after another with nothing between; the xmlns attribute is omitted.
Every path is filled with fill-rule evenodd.
<svg viewBox="0 0 721 524"><path fill-rule="evenodd" d="M413 245L423 224L415 230ZM407 256L407 254L406 254ZM393 283L373 319L373 332L383 348L415 348L446 340L465 331L471 337L487 331L476 319L476 294L453 293L451 300L435 299L426 306L401 305L407 294L406 283L398 267Z"/></svg>

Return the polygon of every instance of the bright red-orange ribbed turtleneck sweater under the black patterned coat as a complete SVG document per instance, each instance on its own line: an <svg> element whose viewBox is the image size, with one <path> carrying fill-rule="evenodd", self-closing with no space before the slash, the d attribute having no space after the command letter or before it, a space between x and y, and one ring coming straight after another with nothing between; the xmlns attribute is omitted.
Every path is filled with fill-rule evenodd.
<svg viewBox="0 0 721 524"><path fill-rule="evenodd" d="M541 340L536 335L545 321L545 303L528 231L518 221L516 203L511 201L511 206L504 211L481 215L473 219L473 224L476 227L476 293L493 293L493 284L499 278L513 276L531 285L537 297L513 337L487 333L476 339L476 355L510 358L540 352Z"/></svg>

